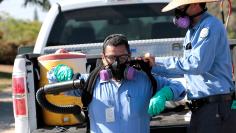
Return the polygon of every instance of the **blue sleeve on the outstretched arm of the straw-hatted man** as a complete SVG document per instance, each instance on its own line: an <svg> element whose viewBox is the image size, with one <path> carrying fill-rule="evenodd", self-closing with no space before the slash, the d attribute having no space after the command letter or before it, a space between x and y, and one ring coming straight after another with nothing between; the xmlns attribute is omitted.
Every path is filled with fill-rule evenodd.
<svg viewBox="0 0 236 133"><path fill-rule="evenodd" d="M192 49L184 50L184 57L155 58L156 65L152 71L167 77L183 74L197 75L209 71L215 59L215 49L217 39L220 38L220 31L208 27L207 29L209 30L208 36L201 38L199 33ZM219 34L213 34L213 32Z"/></svg>

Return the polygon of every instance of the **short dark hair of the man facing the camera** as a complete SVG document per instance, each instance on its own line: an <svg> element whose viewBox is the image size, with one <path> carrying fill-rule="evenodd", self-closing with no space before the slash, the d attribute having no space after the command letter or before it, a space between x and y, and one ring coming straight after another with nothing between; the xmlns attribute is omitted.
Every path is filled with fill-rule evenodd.
<svg viewBox="0 0 236 133"><path fill-rule="evenodd" d="M128 53L129 54L131 53L128 39L123 34L111 34L107 36L102 46L103 53L105 53L105 49L108 45L115 46L115 47L120 46L120 45L125 45Z"/></svg>

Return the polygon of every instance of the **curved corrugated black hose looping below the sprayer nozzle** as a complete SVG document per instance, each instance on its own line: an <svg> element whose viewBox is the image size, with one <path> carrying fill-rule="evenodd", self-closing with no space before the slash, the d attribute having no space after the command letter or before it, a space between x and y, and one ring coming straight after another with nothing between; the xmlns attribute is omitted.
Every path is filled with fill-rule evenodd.
<svg viewBox="0 0 236 133"><path fill-rule="evenodd" d="M36 100L38 101L39 105L51 112L54 113L61 113L61 114L73 114L80 122L85 121L85 115L81 111L81 107L78 105L54 105L50 103L46 99L46 93L44 92L44 88L40 88L36 92Z"/></svg>

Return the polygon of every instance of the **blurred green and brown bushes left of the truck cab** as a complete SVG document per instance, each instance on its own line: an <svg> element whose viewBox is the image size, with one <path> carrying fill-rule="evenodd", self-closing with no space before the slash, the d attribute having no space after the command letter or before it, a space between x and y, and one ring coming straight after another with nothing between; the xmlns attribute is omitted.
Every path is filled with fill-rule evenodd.
<svg viewBox="0 0 236 133"><path fill-rule="evenodd" d="M33 46L41 27L39 21L0 16L0 63L12 64L19 46Z"/></svg>

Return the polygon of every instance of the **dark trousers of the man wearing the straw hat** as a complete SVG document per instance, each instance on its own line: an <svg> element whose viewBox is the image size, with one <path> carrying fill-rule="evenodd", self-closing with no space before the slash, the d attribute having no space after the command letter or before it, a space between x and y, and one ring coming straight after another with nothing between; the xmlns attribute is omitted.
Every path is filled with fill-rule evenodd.
<svg viewBox="0 0 236 133"><path fill-rule="evenodd" d="M192 112L188 133L236 133L232 101L208 103Z"/></svg>

